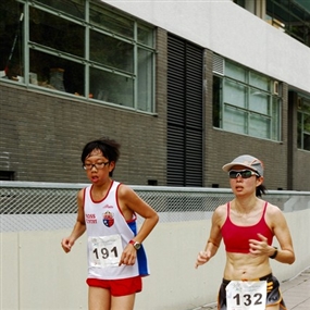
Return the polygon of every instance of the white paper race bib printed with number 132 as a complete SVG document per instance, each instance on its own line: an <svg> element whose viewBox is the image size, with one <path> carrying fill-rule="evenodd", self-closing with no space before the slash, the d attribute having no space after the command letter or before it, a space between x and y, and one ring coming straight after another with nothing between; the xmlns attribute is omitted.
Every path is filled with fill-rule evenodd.
<svg viewBox="0 0 310 310"><path fill-rule="evenodd" d="M265 281L231 281L226 286L227 310L265 310Z"/></svg>

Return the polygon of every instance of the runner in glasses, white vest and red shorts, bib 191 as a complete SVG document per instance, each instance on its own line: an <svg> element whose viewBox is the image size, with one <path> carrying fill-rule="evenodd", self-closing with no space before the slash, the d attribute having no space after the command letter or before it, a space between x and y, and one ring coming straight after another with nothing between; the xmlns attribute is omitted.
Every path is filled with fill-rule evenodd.
<svg viewBox="0 0 310 310"><path fill-rule="evenodd" d="M61 241L70 252L87 231L89 310L134 309L136 293L142 289L141 276L149 274L141 243L159 216L132 188L112 179L119 149L109 138L84 147L82 165L91 184L77 194L76 224ZM144 218L139 231L137 214Z"/></svg>

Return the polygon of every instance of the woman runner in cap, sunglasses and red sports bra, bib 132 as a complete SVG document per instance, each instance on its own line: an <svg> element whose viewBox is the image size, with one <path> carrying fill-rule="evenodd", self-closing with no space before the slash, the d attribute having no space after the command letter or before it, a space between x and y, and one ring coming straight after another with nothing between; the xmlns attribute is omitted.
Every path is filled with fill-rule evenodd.
<svg viewBox="0 0 310 310"><path fill-rule="evenodd" d="M265 194L263 163L244 154L225 164L223 171L228 173L235 198L215 209L210 236L204 250L198 253L196 268L216 253L223 238L226 264L218 309L286 309L270 259L292 264L295 253L284 214L261 199ZM273 246L273 237L278 248Z"/></svg>

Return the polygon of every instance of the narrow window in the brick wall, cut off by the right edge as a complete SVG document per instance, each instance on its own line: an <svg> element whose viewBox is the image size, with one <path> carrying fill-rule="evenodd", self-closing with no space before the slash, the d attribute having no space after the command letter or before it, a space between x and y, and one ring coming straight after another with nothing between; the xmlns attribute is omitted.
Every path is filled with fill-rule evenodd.
<svg viewBox="0 0 310 310"><path fill-rule="evenodd" d="M310 98L298 98L297 147L310 151Z"/></svg>

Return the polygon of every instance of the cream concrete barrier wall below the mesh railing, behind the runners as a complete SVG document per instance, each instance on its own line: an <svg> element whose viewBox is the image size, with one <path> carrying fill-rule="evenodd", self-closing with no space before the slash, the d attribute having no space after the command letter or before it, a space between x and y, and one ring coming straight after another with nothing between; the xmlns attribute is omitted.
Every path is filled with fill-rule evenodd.
<svg viewBox="0 0 310 310"><path fill-rule="evenodd" d="M272 261L280 281L309 266L310 210L285 213L297 260L293 265ZM187 310L213 302L222 280L224 247L208 264L195 269L210 220L159 223L145 241L151 275L144 278L136 310ZM1 233L1 310L87 309L86 238L71 253L60 246L71 230Z"/></svg>

